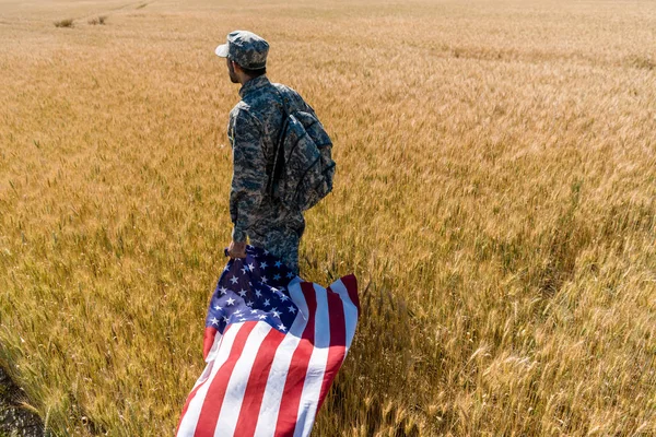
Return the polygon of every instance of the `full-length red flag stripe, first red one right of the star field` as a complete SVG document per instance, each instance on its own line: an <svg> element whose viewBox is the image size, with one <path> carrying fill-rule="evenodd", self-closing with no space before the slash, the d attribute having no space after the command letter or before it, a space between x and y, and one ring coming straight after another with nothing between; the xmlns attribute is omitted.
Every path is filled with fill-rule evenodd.
<svg viewBox="0 0 656 437"><path fill-rule="evenodd" d="M278 413L278 422L276 424L276 437L286 437L294 435L296 427L296 418L298 415L298 404L301 403L301 394L307 375L307 366L309 357L314 350L314 331L315 331L315 311L317 309L317 296L312 282L302 282L301 290L307 303L308 320L298 342L298 346L294 351L290 369L288 373L282 398L280 400L280 411Z"/></svg>

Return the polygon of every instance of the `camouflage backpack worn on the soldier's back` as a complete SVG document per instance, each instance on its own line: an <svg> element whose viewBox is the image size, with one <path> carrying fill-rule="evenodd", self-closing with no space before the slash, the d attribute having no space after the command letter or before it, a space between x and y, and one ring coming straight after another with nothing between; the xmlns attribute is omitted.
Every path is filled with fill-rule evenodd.
<svg viewBox="0 0 656 437"><path fill-rule="evenodd" d="M332 142L314 114L290 110L286 92L276 90L284 115L267 192L292 210L306 211L332 191Z"/></svg>

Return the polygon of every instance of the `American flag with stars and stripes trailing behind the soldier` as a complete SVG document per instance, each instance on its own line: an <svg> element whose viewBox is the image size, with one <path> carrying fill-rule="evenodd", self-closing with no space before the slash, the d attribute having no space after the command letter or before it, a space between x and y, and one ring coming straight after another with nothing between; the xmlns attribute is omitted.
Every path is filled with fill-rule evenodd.
<svg viewBox="0 0 656 437"><path fill-rule="evenodd" d="M247 246L246 258L227 262L210 302L207 366L177 437L308 436L359 314L355 276L324 288Z"/></svg>

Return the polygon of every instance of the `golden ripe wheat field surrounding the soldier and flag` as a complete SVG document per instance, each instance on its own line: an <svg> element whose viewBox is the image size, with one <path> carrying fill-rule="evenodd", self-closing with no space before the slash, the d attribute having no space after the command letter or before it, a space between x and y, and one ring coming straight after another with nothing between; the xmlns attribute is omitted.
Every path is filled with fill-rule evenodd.
<svg viewBox="0 0 656 437"><path fill-rule="evenodd" d="M649 0L0 0L0 365L25 408L173 435L230 243L236 28L335 141L301 271L355 273L363 314L314 436L656 434Z"/></svg>

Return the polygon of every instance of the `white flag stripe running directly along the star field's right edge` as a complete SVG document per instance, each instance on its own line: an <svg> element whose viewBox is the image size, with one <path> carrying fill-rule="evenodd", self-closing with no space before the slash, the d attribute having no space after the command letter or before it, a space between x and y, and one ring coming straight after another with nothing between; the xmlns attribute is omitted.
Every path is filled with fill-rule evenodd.
<svg viewBox="0 0 656 437"><path fill-rule="evenodd" d="M257 417L258 422L257 427L255 428L256 437L270 437L276 433L280 402L292 356L301 342L301 336L307 324L307 303L305 302L305 297L303 297L300 281L292 281L288 290L290 291L292 302L298 307L298 312L296 314L296 318L294 319L294 323L292 323L290 331L276 351L273 363L271 364L271 371L269 373L269 379L267 380L267 388L265 389L265 395L262 398L262 405Z"/></svg>

